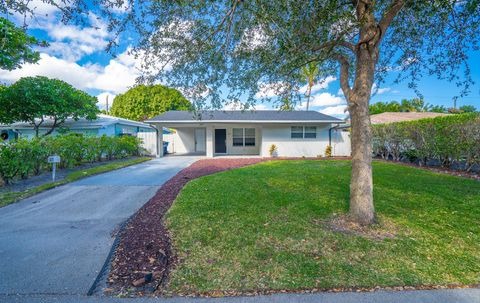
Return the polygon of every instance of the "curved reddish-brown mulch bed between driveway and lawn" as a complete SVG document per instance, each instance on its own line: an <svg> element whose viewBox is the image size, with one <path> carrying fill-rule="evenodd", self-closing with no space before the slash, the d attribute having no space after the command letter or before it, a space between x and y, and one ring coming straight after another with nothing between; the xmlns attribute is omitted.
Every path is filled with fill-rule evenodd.
<svg viewBox="0 0 480 303"><path fill-rule="evenodd" d="M109 291L123 294L151 293L165 283L174 256L170 235L162 218L188 181L265 160L262 158L199 160L168 180L119 233L120 241L107 280ZM142 279L146 279L146 283ZM133 287L134 283L138 287Z"/></svg>

